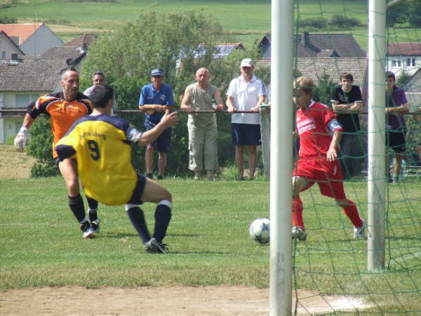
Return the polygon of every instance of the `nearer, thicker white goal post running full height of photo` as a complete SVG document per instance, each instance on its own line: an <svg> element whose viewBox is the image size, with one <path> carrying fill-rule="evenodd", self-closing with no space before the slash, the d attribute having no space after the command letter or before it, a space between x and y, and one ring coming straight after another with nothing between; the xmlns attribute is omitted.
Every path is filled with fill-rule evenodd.
<svg viewBox="0 0 421 316"><path fill-rule="evenodd" d="M293 0L272 0L270 315L292 312L293 13Z"/></svg>

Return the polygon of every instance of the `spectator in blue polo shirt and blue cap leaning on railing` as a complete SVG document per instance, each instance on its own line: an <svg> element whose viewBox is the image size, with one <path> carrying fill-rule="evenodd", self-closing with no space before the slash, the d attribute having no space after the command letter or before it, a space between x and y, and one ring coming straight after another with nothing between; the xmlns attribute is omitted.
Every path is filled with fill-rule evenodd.
<svg viewBox="0 0 421 316"><path fill-rule="evenodd" d="M174 106L173 89L168 84L163 83L163 71L159 68L152 70L152 84L143 86L139 98L139 110L146 113L145 129L149 131L159 124L163 114L168 108L172 111ZM168 127L159 138L146 147L145 167L147 178L152 179L152 166L154 164L154 151L158 151L158 180L163 178L167 162L167 152L170 150L171 127Z"/></svg>

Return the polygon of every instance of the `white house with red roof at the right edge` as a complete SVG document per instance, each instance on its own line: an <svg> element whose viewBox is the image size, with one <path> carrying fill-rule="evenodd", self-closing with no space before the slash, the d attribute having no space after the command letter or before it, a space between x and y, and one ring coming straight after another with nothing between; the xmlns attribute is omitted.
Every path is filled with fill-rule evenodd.
<svg viewBox="0 0 421 316"><path fill-rule="evenodd" d="M413 75L421 67L421 43L392 43L387 46L387 70L399 77Z"/></svg>

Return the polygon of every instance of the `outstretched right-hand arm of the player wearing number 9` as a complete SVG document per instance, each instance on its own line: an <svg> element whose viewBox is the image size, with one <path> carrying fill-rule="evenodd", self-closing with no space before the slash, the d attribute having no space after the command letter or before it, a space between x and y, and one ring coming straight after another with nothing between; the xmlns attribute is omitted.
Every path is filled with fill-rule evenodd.
<svg viewBox="0 0 421 316"><path fill-rule="evenodd" d="M145 133L140 133L135 130L133 133L129 132L129 140L134 143L138 143L140 146L145 146L149 143L152 143L156 138L158 138L165 129L168 127L180 124L180 119L178 118L178 112L170 113L169 110L166 110L159 124Z"/></svg>

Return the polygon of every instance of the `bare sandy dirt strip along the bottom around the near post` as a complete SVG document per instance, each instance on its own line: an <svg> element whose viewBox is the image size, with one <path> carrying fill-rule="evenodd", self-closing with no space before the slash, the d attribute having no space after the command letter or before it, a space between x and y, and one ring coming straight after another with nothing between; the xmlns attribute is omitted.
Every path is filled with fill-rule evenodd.
<svg viewBox="0 0 421 316"><path fill-rule="evenodd" d="M298 315L370 307L361 299L298 291ZM293 310L295 298L293 298ZM253 287L45 287L0 292L0 315L269 315L269 289Z"/></svg>

